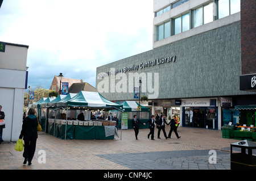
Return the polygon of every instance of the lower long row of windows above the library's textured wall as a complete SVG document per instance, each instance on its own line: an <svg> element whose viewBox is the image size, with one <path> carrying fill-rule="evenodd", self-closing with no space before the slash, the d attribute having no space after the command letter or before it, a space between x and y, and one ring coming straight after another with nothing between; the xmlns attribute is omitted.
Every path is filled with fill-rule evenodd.
<svg viewBox="0 0 256 181"><path fill-rule="evenodd" d="M160 26L156 27L156 41L187 31L190 28L213 22L213 8L213 3L209 3L208 5L190 11L192 12L192 19L190 18L191 13L188 12L178 18L160 24ZM217 1L217 19L224 18L236 12L240 12L240 0Z"/></svg>

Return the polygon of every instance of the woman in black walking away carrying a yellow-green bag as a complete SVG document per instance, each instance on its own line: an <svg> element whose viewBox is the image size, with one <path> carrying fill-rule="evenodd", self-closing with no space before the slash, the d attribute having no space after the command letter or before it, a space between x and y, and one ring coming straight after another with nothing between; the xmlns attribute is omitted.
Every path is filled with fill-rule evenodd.
<svg viewBox="0 0 256 181"><path fill-rule="evenodd" d="M19 138L24 140L24 162L31 165L32 158L35 154L36 139L38 138L38 119L36 117L36 111L30 108L27 113L27 117L23 120L22 131L20 132Z"/></svg>

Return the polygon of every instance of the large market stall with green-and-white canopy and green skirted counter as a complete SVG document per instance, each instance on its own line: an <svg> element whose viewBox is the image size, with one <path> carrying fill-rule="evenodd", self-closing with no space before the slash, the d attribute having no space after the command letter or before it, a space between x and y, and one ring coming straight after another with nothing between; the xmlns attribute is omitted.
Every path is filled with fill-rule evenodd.
<svg viewBox="0 0 256 181"><path fill-rule="evenodd" d="M115 131L114 121L92 120L92 115L99 110L122 111L122 105L110 102L98 92L81 91L71 99L64 99L55 104L55 111L60 110L59 115L56 114L55 129L53 129L56 137L62 139L114 138L114 135L106 135L105 131L105 127L109 127L112 132ZM77 120L81 112L84 112L84 121ZM52 125L54 127L54 124Z"/></svg>

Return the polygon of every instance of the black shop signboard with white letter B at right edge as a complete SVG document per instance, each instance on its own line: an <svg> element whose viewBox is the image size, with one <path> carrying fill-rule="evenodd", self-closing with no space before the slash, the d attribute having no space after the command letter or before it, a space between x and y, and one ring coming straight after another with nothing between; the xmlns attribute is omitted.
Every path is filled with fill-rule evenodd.
<svg viewBox="0 0 256 181"><path fill-rule="evenodd" d="M256 74L241 75L240 90L256 91Z"/></svg>

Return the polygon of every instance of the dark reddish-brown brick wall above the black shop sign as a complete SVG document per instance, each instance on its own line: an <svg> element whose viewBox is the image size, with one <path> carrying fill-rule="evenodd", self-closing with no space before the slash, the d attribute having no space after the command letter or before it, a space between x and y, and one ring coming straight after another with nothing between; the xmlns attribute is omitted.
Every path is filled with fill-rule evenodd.
<svg viewBox="0 0 256 181"><path fill-rule="evenodd" d="M256 73L255 0L241 0L241 61L242 75Z"/></svg>

